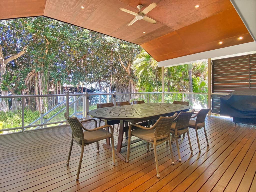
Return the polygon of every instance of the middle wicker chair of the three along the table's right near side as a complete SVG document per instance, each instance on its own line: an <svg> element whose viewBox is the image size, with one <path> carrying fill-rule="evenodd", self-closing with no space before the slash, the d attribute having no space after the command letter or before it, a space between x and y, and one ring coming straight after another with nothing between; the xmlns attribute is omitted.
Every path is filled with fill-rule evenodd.
<svg viewBox="0 0 256 192"><path fill-rule="evenodd" d="M178 114L178 116L175 118L175 120L173 121L172 126L171 126L171 131L170 131L170 133L172 134L171 142L173 143L173 137L175 137L178 156L179 156L179 162L181 162L181 157L180 157L180 153L179 153L178 135L187 133L190 152L193 153L191 142L190 142L190 137L189 137L189 133L188 133L188 123L189 123L189 120L190 120L191 116L193 115L194 111L195 110L193 109L190 112L183 112L183 111L180 112Z"/></svg>

